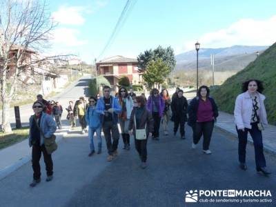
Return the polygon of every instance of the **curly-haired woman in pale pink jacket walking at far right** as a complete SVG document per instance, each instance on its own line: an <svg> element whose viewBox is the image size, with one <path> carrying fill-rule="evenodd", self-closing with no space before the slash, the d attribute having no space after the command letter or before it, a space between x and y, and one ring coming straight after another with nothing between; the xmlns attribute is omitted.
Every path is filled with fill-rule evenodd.
<svg viewBox="0 0 276 207"><path fill-rule="evenodd" d="M237 96L235 102L235 124L239 137L239 167L246 170L246 143L247 135L250 133L254 148L257 172L269 175L266 170L266 159L264 158L262 130L268 124L266 119L266 108L262 95L264 87L262 81L250 79L242 85L242 94Z"/></svg>

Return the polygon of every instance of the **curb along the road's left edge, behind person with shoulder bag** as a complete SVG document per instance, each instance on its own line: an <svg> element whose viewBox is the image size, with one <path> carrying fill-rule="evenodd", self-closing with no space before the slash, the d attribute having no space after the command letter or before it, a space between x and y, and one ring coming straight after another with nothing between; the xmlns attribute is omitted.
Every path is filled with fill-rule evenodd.
<svg viewBox="0 0 276 207"><path fill-rule="evenodd" d="M68 135L68 131L62 132L60 134L58 133L57 143L59 143L66 135ZM28 161L30 161L31 159L32 159L31 155L26 155L24 157L21 157L19 160L15 161L14 164L11 164L10 166L6 166L6 168L3 168L2 170L0 170L0 180L4 179L8 175L10 175L10 173L14 172L24 164L27 164Z"/></svg>

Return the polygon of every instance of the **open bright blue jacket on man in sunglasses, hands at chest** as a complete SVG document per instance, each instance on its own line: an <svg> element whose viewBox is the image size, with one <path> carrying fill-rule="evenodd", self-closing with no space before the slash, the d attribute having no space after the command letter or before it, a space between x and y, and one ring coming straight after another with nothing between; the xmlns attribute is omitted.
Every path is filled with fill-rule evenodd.
<svg viewBox="0 0 276 207"><path fill-rule="evenodd" d="M111 108L114 109L114 112L112 113L112 121L113 124L118 124L118 114L121 112L121 106L119 104L119 101L117 98L112 97L112 106ZM103 97L101 97L98 101L97 101L97 106L96 106L96 111L101 114L101 123L103 123L103 119L104 119L104 100Z"/></svg>

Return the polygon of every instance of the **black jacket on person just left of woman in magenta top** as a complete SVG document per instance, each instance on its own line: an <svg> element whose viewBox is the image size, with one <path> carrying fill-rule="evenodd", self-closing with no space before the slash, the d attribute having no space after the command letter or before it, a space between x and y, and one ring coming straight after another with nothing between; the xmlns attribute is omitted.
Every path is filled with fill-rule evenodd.
<svg viewBox="0 0 276 207"><path fill-rule="evenodd" d="M187 110L188 110L188 101L186 97L175 97L172 99L172 104L170 105L172 110L172 121L175 119L182 119L187 121Z"/></svg>

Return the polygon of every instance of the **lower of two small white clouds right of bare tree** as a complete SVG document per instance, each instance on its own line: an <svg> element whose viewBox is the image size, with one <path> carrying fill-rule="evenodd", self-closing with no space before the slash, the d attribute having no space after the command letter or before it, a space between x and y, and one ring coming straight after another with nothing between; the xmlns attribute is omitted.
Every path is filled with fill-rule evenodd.
<svg viewBox="0 0 276 207"><path fill-rule="evenodd" d="M78 35L80 31L71 28L57 28L53 32L53 42L59 43L63 46L73 47L82 46L88 43L87 40L79 40Z"/></svg>

